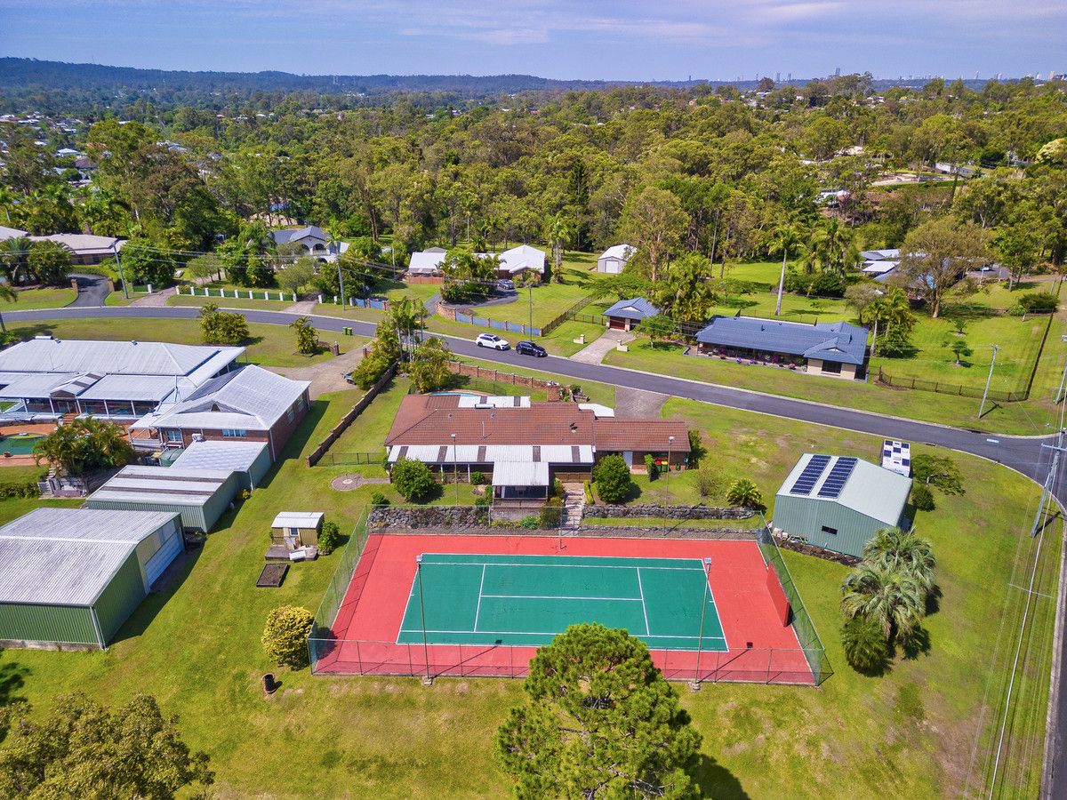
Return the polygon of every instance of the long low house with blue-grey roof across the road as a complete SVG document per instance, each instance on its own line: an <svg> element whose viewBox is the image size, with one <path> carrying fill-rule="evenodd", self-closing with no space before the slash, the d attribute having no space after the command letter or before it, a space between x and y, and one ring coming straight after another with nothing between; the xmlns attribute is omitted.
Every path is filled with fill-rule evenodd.
<svg viewBox="0 0 1067 800"><path fill-rule="evenodd" d="M866 374L867 330L849 322L801 322L719 317L697 334L700 352L857 379Z"/></svg>

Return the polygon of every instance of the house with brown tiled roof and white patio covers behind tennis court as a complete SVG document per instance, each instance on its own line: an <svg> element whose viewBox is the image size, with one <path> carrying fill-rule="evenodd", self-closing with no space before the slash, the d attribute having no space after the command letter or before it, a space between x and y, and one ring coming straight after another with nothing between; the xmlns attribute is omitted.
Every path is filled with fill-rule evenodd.
<svg viewBox="0 0 1067 800"><path fill-rule="evenodd" d="M619 453L635 471L644 457L688 463L685 423L617 419L604 406L531 402L528 397L408 395L385 437L388 463L414 459L443 479L491 478L499 499L544 498L553 482L587 480L596 461Z"/></svg>

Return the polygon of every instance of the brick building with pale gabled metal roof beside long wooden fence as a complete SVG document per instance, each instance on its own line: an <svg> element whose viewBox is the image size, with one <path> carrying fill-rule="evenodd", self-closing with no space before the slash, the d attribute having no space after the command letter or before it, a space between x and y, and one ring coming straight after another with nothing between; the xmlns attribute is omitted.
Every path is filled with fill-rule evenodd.
<svg viewBox="0 0 1067 800"><path fill-rule="evenodd" d="M273 461L307 414L310 385L248 365L146 414L130 426L130 441L149 448L218 439L260 442L267 443Z"/></svg>

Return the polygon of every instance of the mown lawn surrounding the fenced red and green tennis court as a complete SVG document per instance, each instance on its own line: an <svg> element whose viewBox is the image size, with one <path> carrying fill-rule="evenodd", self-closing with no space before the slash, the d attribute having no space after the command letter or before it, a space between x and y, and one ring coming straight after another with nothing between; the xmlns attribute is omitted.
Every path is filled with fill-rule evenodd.
<svg viewBox="0 0 1067 800"><path fill-rule="evenodd" d="M308 469L293 458L336 422L355 394L314 404L288 460L223 517L178 580L134 613L107 653L0 654L0 668L15 676L12 694L47 707L54 694L74 690L108 703L154 693L165 714L179 716L190 745L211 753L220 798L506 794L493 735L521 700L519 682L440 679L424 688L417 678L313 678L306 670L283 670L276 694L265 698L259 687L271 669L259 646L267 612L286 603L314 609L336 561L331 556L296 564L281 589L256 589L271 517L282 510L321 510L347 527L381 489L336 492L330 480L350 470ZM670 401L665 414L701 429L714 464L751 476L765 496L805 449L869 457L877 449L871 437L687 401ZM364 426L378 427L386 416L367 417ZM935 544L943 592L927 620L929 652L898 659L882 677L854 673L837 643L838 586L846 570L786 553L837 674L817 690L720 684L689 693L679 686L703 735L699 780L705 795L984 794L1021 594L1008 583L1024 585L1033 557L1024 529L1037 490L988 462L958 461L968 494L939 496L939 508L917 521ZM2 501L0 519L32 505ZM1045 594L1055 592L1058 533L1058 527L1050 531L1041 554L1036 588ZM1037 602L1051 609L1051 601ZM1032 676L1016 684L1016 697L1025 702L1013 714L1015 757L1001 773L1010 781L1007 796L1034 795L1050 637L1051 626L1035 628L1026 652ZM299 757L283 746L288 742L299 742Z"/></svg>

